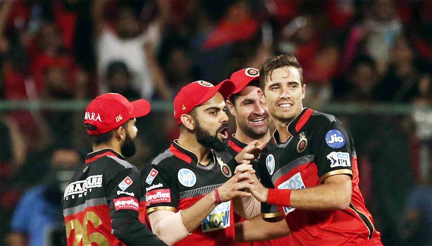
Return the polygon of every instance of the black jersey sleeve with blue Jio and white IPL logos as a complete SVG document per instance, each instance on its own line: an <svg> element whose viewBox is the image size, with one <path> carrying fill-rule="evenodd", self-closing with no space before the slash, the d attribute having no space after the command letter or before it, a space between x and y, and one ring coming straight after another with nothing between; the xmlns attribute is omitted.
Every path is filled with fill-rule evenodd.
<svg viewBox="0 0 432 246"><path fill-rule="evenodd" d="M320 182L335 174L352 176L354 146L350 133L338 119L317 128L311 142Z"/></svg>

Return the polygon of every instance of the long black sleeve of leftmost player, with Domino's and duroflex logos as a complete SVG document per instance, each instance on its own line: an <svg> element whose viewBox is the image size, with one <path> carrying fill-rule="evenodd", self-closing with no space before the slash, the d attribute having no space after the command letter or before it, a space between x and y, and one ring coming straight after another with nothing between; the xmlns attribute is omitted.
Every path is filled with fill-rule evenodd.
<svg viewBox="0 0 432 246"><path fill-rule="evenodd" d="M109 172L105 185L113 234L127 245L166 245L138 219L141 186L136 167L118 166Z"/></svg>

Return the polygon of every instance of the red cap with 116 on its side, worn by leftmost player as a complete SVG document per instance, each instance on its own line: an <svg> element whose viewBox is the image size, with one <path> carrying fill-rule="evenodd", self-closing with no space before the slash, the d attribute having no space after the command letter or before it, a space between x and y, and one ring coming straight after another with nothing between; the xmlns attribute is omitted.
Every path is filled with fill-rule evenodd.
<svg viewBox="0 0 432 246"><path fill-rule="evenodd" d="M86 129L88 135L108 133L131 118L141 117L150 112L150 103L144 99L129 102L117 93L106 93L93 99L85 108L84 124L97 130Z"/></svg>

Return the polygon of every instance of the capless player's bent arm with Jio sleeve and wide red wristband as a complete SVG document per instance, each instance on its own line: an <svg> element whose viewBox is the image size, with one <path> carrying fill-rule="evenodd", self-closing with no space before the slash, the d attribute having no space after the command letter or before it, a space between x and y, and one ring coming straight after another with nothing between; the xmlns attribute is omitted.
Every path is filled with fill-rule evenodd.
<svg viewBox="0 0 432 246"><path fill-rule="evenodd" d="M337 144L327 143L328 136L336 134L343 139ZM328 135L328 136L327 136ZM339 121L325 129L317 129L317 137L311 141L318 167L320 185L302 190L276 190L254 185L254 196L259 201L283 207L306 210L344 210L348 208L352 193L352 154L349 133Z"/></svg>

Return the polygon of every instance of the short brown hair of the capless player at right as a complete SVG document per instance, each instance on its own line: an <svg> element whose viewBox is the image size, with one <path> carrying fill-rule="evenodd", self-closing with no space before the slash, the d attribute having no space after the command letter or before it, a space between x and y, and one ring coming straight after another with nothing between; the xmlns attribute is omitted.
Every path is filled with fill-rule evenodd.
<svg viewBox="0 0 432 246"><path fill-rule="evenodd" d="M265 83L268 78L271 77L271 74L275 69L283 68L283 67L294 67L299 71L300 74L300 82L303 86L303 69L300 66L299 61L294 55L281 54L277 56L273 56L264 61L264 64L260 70L260 88L264 91Z"/></svg>

